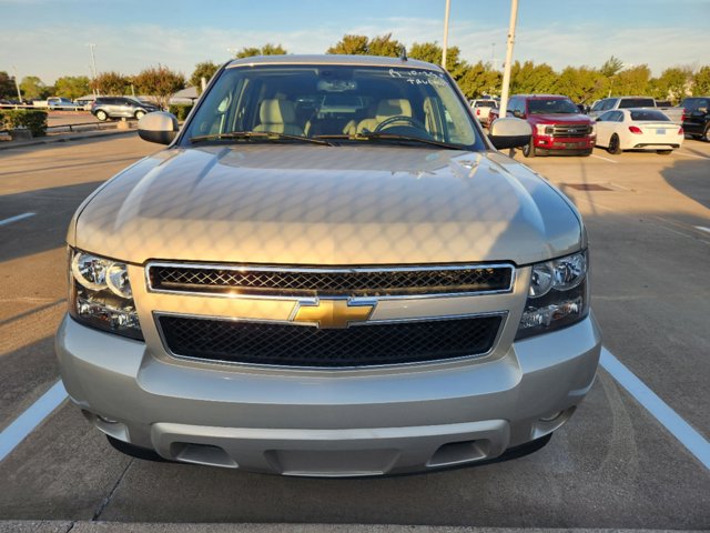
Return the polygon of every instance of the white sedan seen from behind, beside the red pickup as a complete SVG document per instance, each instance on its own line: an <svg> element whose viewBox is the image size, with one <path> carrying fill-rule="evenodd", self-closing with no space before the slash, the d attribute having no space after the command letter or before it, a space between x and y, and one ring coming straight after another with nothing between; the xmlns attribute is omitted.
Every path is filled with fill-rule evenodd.
<svg viewBox="0 0 710 533"><path fill-rule="evenodd" d="M616 109L597 119L597 145L609 153L656 150L668 155L683 142L683 129L657 109Z"/></svg>

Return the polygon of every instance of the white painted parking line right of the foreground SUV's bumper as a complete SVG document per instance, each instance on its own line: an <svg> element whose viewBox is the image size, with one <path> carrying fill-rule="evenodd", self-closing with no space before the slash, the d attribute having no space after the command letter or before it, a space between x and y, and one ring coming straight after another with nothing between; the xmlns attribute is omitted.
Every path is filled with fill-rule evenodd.
<svg viewBox="0 0 710 533"><path fill-rule="evenodd" d="M710 470L710 442L693 426L680 418L666 402L639 380L621 361L606 348L601 349L599 364L617 380L649 413L666 428L671 435L686 446L704 466Z"/></svg>

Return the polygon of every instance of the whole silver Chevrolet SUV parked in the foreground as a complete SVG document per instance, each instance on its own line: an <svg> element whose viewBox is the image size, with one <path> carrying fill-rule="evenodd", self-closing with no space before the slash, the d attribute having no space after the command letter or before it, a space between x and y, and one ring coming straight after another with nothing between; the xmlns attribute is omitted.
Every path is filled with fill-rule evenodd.
<svg viewBox="0 0 710 533"><path fill-rule="evenodd" d="M587 232L452 78L372 57L235 60L68 232L72 401L130 454L287 475L542 445L592 385ZM518 451L516 450L516 453Z"/></svg>

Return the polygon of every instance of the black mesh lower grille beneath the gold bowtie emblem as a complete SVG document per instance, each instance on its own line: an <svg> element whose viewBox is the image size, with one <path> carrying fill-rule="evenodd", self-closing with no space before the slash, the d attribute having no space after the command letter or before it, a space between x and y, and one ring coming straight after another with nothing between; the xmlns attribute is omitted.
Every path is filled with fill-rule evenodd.
<svg viewBox="0 0 710 533"><path fill-rule="evenodd" d="M486 354L503 316L368 324L347 329L159 316L175 355L278 366L371 366Z"/></svg>

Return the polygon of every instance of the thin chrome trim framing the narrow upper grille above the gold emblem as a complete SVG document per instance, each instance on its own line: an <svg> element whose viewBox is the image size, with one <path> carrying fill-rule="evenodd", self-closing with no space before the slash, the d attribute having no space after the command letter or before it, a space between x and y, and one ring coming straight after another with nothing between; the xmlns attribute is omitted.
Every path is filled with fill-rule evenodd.
<svg viewBox="0 0 710 533"><path fill-rule="evenodd" d="M151 283L150 271L154 266L168 266L168 268L186 268L196 270L229 270L229 271L243 271L243 272L301 272L301 273L378 273L378 272L423 272L432 270L476 270L476 269L509 269L510 270L510 283L507 289L500 289L495 291L469 291L469 292L436 292L436 293L418 293L418 294L395 294L376 296L377 300L413 300L413 299L426 299L426 298L459 298L459 296L473 296L485 294L509 294L515 288L517 280L517 269L513 263L473 263L473 264L429 264L426 266L352 266L352 268L321 268L321 266L275 266L275 265L235 265L235 264L220 264L220 263L176 263L164 261L149 261L145 263L143 270L145 276L145 286L148 292L155 294L173 294L180 296L201 296L201 298L231 298L231 299L246 299L246 300L307 300L310 296L305 295L288 295L278 296L273 294L229 294L224 292L209 292L209 291L175 291L165 289L155 289ZM339 294L332 298L347 298L345 294ZM324 298L328 298L327 294ZM354 296L354 298L375 298L375 296Z"/></svg>

